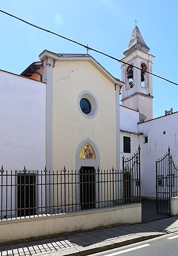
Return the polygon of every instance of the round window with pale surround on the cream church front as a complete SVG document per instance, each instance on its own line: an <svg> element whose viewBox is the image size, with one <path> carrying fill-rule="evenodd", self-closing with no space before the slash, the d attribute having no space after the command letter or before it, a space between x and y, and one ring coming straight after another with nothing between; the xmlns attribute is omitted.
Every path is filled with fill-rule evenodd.
<svg viewBox="0 0 178 256"><path fill-rule="evenodd" d="M98 103L96 96L90 91L82 91L78 95L78 109L80 113L86 118L93 118L98 112Z"/></svg>

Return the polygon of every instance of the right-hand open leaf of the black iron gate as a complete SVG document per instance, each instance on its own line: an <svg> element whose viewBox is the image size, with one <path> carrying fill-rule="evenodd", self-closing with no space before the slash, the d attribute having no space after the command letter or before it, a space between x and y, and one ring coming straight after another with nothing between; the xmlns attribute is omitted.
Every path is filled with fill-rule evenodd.
<svg viewBox="0 0 178 256"><path fill-rule="evenodd" d="M170 148L165 156L156 161L156 210L159 214L171 215L171 197L178 195L178 168Z"/></svg>

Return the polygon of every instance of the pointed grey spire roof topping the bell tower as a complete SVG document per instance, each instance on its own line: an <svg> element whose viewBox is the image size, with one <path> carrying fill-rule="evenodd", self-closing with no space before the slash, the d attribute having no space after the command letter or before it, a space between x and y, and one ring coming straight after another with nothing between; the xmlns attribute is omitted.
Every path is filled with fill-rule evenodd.
<svg viewBox="0 0 178 256"><path fill-rule="evenodd" d="M150 51L150 48L145 44L145 41L140 33L140 30L137 26L133 29L129 45L127 49L123 52L125 56L128 56L135 50L140 50L146 54Z"/></svg>

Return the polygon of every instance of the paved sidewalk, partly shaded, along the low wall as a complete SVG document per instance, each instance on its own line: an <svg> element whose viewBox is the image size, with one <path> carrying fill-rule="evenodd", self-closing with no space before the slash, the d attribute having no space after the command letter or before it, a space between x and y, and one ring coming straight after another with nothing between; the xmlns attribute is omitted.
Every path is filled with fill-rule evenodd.
<svg viewBox="0 0 178 256"><path fill-rule="evenodd" d="M8 245L0 247L0 255L88 255L167 233L178 234L177 216L145 224L115 226L75 235Z"/></svg>

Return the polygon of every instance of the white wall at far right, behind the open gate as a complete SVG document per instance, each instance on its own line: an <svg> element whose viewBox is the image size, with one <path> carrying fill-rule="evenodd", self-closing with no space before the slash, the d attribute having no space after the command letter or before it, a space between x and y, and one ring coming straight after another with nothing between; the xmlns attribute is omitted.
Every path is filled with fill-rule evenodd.
<svg viewBox="0 0 178 256"><path fill-rule="evenodd" d="M141 145L141 196L156 197L156 160L166 153L168 147L175 164L178 164L178 112L139 124ZM163 134L163 132L166 134Z"/></svg>

